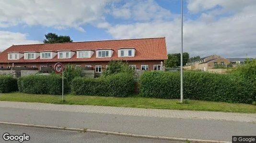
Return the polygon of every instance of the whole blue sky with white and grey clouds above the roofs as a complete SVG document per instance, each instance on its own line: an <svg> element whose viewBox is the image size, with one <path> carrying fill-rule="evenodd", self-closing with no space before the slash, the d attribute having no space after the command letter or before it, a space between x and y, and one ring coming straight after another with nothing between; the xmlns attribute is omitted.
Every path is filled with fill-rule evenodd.
<svg viewBox="0 0 256 143"><path fill-rule="evenodd" d="M183 51L190 56L256 58L256 0L183 0ZM0 0L0 51L43 43L165 37L181 48L181 0Z"/></svg>

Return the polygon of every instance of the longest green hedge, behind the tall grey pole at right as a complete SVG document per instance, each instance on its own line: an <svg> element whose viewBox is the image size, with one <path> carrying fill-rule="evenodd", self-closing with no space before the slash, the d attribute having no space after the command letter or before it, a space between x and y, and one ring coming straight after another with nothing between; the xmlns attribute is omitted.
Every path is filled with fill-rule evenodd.
<svg viewBox="0 0 256 143"><path fill-rule="evenodd" d="M140 76L143 97L180 98L179 72L144 72ZM252 103L255 85L233 74L184 72L184 98L216 102Z"/></svg>

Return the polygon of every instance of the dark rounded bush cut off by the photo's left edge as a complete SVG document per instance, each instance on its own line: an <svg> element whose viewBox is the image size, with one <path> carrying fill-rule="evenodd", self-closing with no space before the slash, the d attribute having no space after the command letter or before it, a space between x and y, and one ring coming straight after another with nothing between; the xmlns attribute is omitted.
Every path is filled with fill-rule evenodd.
<svg viewBox="0 0 256 143"><path fill-rule="evenodd" d="M18 90L17 80L11 75L0 75L0 93L14 92Z"/></svg>

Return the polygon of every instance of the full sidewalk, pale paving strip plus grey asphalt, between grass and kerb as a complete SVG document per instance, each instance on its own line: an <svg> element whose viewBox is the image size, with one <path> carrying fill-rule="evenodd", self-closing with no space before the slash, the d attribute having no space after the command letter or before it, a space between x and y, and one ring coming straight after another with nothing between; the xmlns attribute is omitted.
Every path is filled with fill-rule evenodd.
<svg viewBox="0 0 256 143"><path fill-rule="evenodd" d="M256 114L244 113L0 102L0 122L229 142L255 135L255 121Z"/></svg>

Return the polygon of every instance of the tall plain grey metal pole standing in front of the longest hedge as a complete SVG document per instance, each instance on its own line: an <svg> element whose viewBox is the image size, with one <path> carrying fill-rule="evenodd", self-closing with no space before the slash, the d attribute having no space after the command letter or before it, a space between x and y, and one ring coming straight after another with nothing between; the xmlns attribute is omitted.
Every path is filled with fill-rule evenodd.
<svg viewBox="0 0 256 143"><path fill-rule="evenodd" d="M183 102L183 0L181 0L180 102Z"/></svg>

